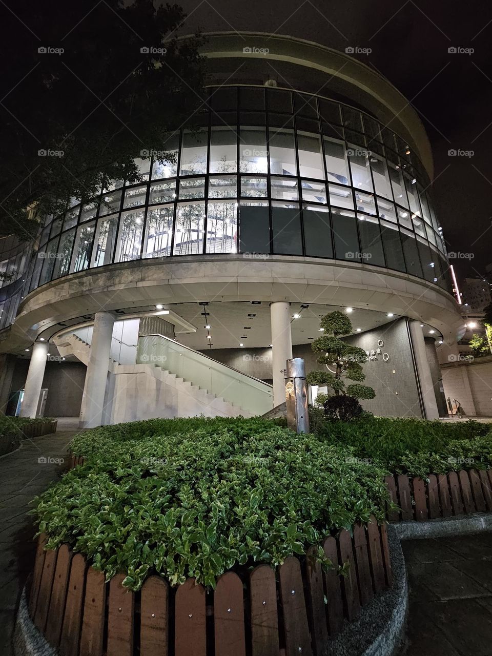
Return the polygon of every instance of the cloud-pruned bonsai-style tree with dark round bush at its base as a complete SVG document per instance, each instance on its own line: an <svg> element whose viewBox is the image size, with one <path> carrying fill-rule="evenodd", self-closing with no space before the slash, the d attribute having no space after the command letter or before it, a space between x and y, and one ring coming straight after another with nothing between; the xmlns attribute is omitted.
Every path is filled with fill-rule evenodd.
<svg viewBox="0 0 492 656"><path fill-rule="evenodd" d="M319 353L317 361L326 366L326 371L311 371L307 380L310 385L326 386L329 393L321 396L320 403L325 413L335 419L350 419L362 412L358 400L373 399L376 396L372 387L361 385L365 379L361 363L365 362L365 350L352 346L340 339L352 333L352 323L343 312L330 312L325 315L319 326L325 331L322 337L315 339L311 345ZM345 380L354 383L345 385Z"/></svg>

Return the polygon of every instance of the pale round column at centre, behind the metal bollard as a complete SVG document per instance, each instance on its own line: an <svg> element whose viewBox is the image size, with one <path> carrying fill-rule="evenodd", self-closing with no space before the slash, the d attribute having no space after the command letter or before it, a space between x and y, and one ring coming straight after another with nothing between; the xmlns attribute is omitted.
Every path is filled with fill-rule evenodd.
<svg viewBox="0 0 492 656"><path fill-rule="evenodd" d="M279 301L270 304L272 325L272 368L274 379L274 407L285 402L285 378L283 369L292 358L291 310L289 303Z"/></svg>

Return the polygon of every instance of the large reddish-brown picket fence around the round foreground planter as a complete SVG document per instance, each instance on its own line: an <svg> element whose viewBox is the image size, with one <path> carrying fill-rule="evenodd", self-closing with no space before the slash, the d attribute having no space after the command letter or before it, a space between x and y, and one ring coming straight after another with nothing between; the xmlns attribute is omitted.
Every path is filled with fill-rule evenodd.
<svg viewBox="0 0 492 656"><path fill-rule="evenodd" d="M66 544L45 543L41 535L29 611L62 656L321 656L344 619L391 584L386 525L374 519L325 540L337 569L292 556L277 569L258 565L247 581L227 572L207 592L194 579L172 588L155 575L131 592L125 575L106 583Z"/></svg>

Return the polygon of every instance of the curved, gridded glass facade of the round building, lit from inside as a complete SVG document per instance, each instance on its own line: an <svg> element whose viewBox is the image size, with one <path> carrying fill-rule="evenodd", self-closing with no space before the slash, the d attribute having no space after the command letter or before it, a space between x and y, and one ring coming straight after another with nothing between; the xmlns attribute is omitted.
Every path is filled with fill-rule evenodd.
<svg viewBox="0 0 492 656"><path fill-rule="evenodd" d="M267 253L364 262L451 293L428 178L400 136L284 89L211 88L203 110L201 127L169 138L174 163L150 154L141 183L115 181L47 218L29 291L112 262Z"/></svg>

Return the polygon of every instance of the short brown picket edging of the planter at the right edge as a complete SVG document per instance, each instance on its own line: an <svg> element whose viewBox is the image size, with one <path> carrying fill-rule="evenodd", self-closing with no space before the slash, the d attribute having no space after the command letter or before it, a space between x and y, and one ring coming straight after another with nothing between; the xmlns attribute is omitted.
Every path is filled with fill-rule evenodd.
<svg viewBox="0 0 492 656"><path fill-rule="evenodd" d="M430 474L428 481L406 474L386 476L391 499L400 510L388 520L433 520L439 517L492 512L492 470L461 470Z"/></svg>

